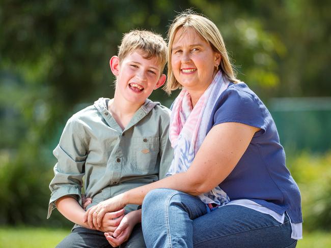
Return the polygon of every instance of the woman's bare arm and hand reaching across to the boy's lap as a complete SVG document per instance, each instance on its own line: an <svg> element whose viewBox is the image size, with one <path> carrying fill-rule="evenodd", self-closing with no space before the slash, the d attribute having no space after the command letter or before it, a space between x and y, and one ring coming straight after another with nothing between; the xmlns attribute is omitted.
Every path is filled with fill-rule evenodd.
<svg viewBox="0 0 331 248"><path fill-rule="evenodd" d="M237 122L220 123L214 126L186 172L146 184L100 202L87 211L84 221L87 221L88 215L90 215L89 224L98 226L104 213L123 208L129 203L142 204L146 194L157 188L174 189L190 195L200 195L212 190L231 173L249 146L254 134L259 130Z"/></svg>

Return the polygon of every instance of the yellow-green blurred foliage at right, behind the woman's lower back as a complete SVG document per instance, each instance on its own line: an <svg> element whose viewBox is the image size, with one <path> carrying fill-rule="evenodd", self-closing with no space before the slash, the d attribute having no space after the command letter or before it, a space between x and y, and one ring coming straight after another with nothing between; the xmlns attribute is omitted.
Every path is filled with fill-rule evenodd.
<svg viewBox="0 0 331 248"><path fill-rule="evenodd" d="M304 230L331 230L331 152L324 156L302 152L287 159L302 201Z"/></svg>

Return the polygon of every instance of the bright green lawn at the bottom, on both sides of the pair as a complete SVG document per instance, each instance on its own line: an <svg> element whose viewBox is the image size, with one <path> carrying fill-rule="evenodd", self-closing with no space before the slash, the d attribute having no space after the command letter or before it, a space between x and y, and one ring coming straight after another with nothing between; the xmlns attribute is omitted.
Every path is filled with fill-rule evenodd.
<svg viewBox="0 0 331 248"><path fill-rule="evenodd" d="M48 248L55 247L70 230L18 227L0 227L1 248ZM109 246L110 247L110 246ZM331 247L331 232L305 233L299 240L297 248L329 248Z"/></svg>

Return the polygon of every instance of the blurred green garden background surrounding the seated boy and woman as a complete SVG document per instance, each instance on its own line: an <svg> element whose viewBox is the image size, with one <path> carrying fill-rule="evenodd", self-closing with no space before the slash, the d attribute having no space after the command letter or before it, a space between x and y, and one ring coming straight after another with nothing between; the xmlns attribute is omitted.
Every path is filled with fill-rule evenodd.
<svg viewBox="0 0 331 248"><path fill-rule="evenodd" d="M331 2L48 0L0 2L0 247L53 247L72 223L46 220L66 120L112 98L108 61L132 28L167 35L187 8L218 26L236 67L267 105L302 195L304 240L331 247ZM161 89L150 97L170 106Z"/></svg>

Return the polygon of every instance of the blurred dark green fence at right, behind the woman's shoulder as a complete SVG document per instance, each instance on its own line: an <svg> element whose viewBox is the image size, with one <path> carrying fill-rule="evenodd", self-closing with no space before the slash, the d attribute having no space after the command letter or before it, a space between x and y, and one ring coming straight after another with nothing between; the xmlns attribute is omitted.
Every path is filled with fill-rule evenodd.
<svg viewBox="0 0 331 248"><path fill-rule="evenodd" d="M273 98L268 105L286 150L331 149L331 98Z"/></svg>

